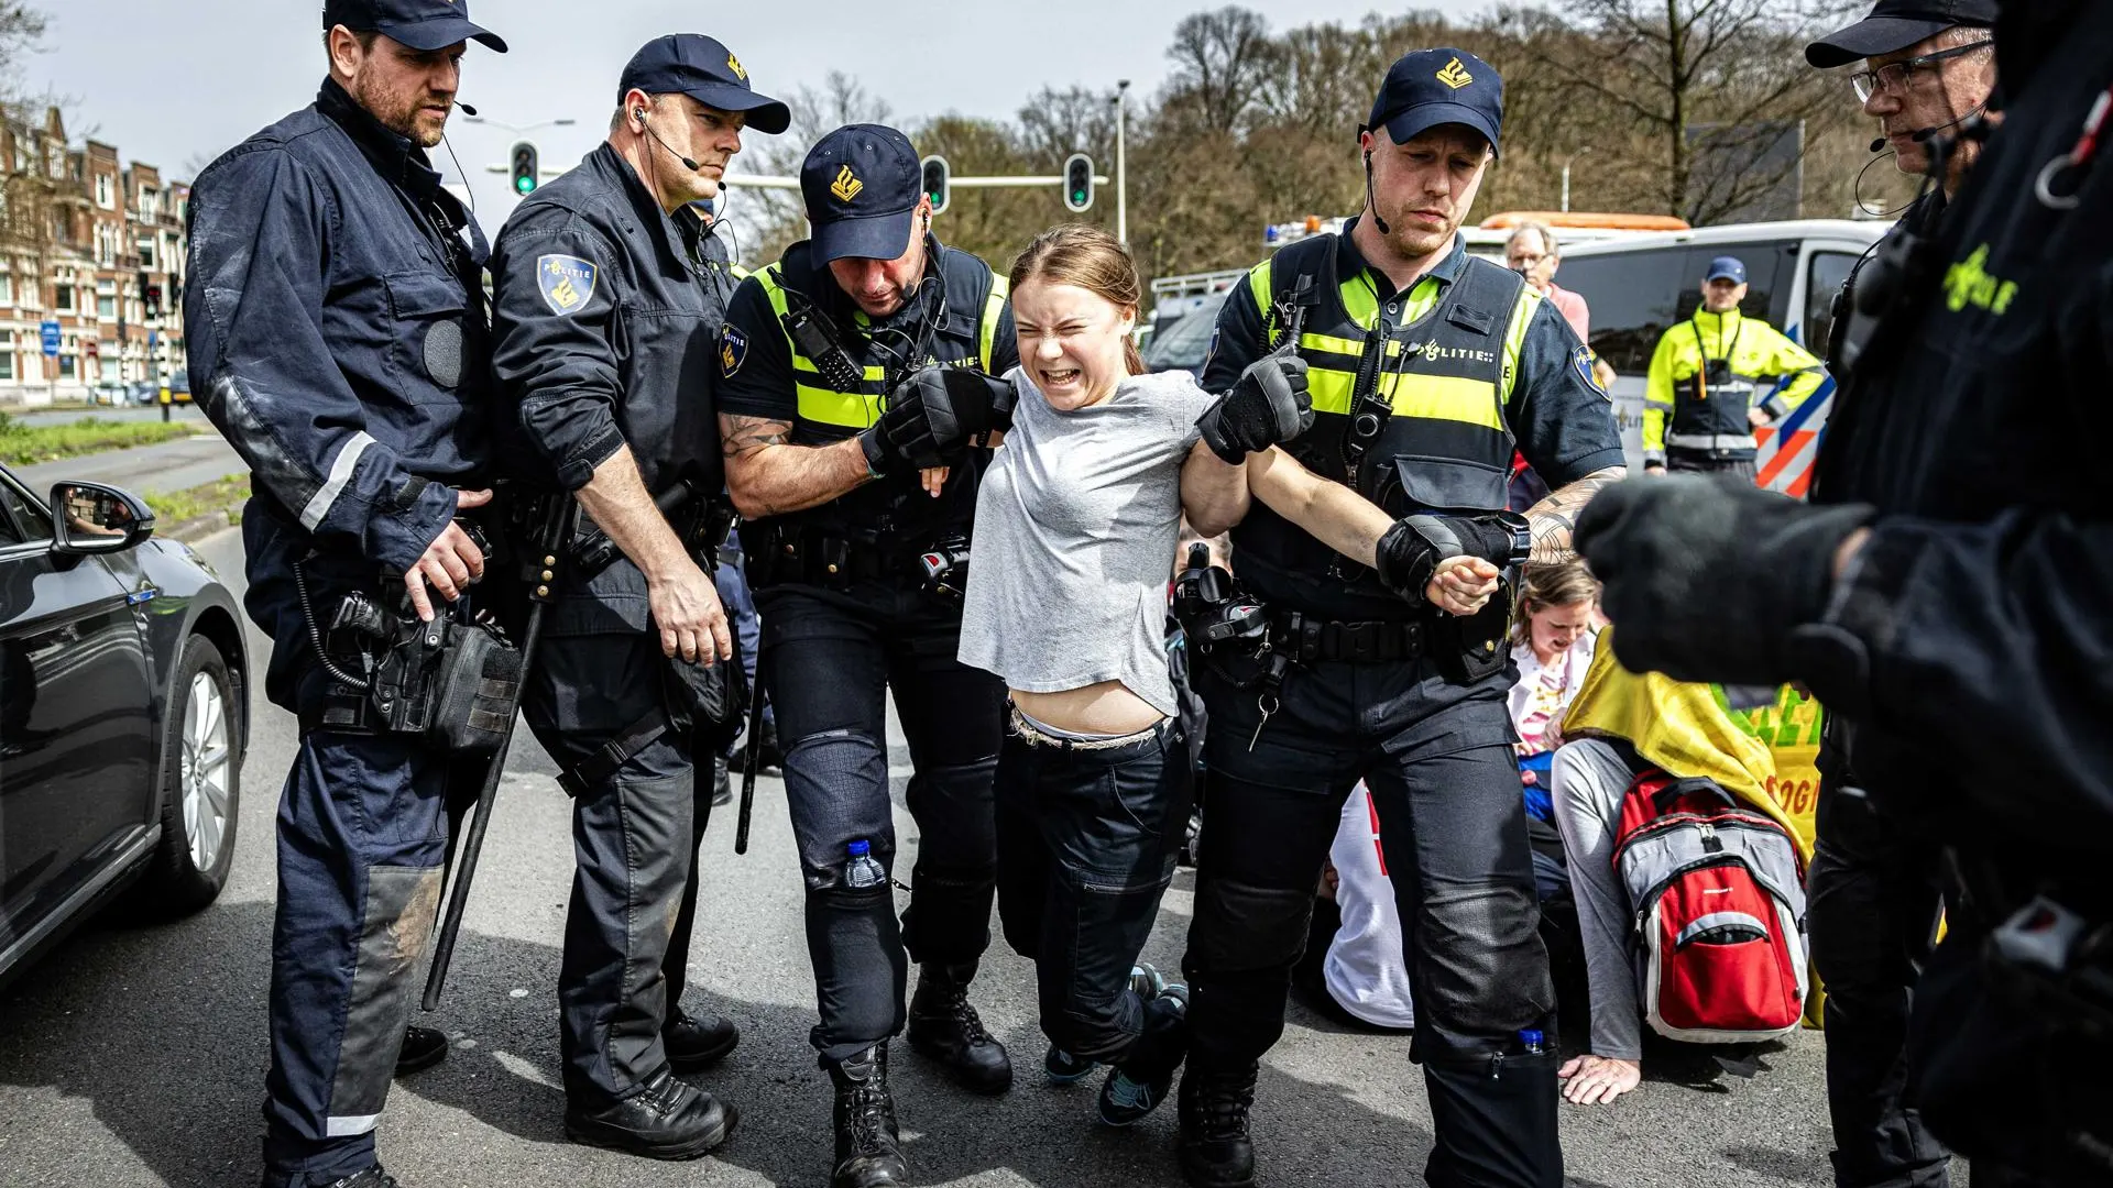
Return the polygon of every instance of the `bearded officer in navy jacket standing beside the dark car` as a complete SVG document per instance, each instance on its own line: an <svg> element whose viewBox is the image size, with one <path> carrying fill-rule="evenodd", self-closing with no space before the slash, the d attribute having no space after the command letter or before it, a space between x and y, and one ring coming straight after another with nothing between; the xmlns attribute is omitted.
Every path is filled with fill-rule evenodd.
<svg viewBox="0 0 2113 1188"><path fill-rule="evenodd" d="M431 619L484 573L456 514L490 499L486 245L427 148L465 42L505 42L450 0L328 0L323 30L315 104L192 188L184 323L190 391L256 484L245 600L273 636L264 691L302 734L279 801L264 1184L391 1188L374 1127L456 761L389 734L355 687L361 660L321 641L353 594Z"/></svg>

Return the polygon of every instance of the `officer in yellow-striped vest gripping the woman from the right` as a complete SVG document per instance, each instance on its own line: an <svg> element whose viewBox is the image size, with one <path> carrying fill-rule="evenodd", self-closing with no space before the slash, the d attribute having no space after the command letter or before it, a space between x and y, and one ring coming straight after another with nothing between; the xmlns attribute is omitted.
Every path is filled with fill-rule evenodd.
<svg viewBox="0 0 2113 1188"><path fill-rule="evenodd" d="M1219 315L1204 387L1226 397L1200 421L1219 457L1285 442L1388 516L1420 516L1386 531L1376 571L1259 503L1232 533L1272 628L1259 676L1200 664L1213 782L1179 1095L1181 1171L1198 1188L1253 1184L1255 1068L1283 1034L1312 888L1359 780L1409 922L1411 1059L1437 1122L1426 1177L1562 1182L1555 996L1504 712L1517 672L1498 573L1523 558L1528 531L1534 556L1568 554L1568 516L1621 476L1621 442L1562 313L1456 235L1500 123L1502 80L1479 57L1397 61L1359 135L1365 209L1255 266ZM1257 364L1278 353L1310 389L1312 429L1295 438L1255 414L1272 387ZM1555 488L1530 528L1502 518L1515 446Z"/></svg>

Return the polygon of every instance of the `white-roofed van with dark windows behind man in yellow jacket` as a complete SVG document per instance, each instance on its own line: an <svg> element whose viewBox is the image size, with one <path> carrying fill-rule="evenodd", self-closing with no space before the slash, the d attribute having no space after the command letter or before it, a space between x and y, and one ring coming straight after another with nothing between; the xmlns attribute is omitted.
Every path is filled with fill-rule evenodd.
<svg viewBox="0 0 2113 1188"><path fill-rule="evenodd" d="M1819 218L1566 243L1555 283L1581 294L1591 307L1591 347L1616 374L1614 419L1629 471L1640 474L1644 461L1644 374L1650 370L1650 353L1669 326L1686 321L1701 307L1703 271L1712 258L1737 256L1745 262L1747 294L1741 313L1764 317L1811 353L1824 355L1834 294L1887 228L1891 222ZM1756 433L1760 452L1754 467L1762 486L1805 495L1832 402L1830 378L1779 425Z"/></svg>

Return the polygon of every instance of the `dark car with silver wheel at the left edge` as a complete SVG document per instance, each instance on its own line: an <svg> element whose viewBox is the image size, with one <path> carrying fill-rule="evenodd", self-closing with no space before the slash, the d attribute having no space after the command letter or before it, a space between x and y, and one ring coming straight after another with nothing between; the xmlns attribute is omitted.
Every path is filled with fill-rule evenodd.
<svg viewBox="0 0 2113 1188"><path fill-rule="evenodd" d="M241 611L154 514L0 469L0 985L97 907L211 903L235 856Z"/></svg>

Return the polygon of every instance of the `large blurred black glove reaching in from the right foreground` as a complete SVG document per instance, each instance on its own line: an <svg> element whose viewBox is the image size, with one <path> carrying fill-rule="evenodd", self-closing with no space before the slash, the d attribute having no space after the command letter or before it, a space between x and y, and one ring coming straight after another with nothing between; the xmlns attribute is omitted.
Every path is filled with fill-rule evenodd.
<svg viewBox="0 0 2113 1188"><path fill-rule="evenodd" d="M1676 681L1781 685L1792 634L1817 624L1834 552L1866 505L1813 507L1739 478L1621 482L1578 516L1576 547L1606 583L1621 662Z"/></svg>

